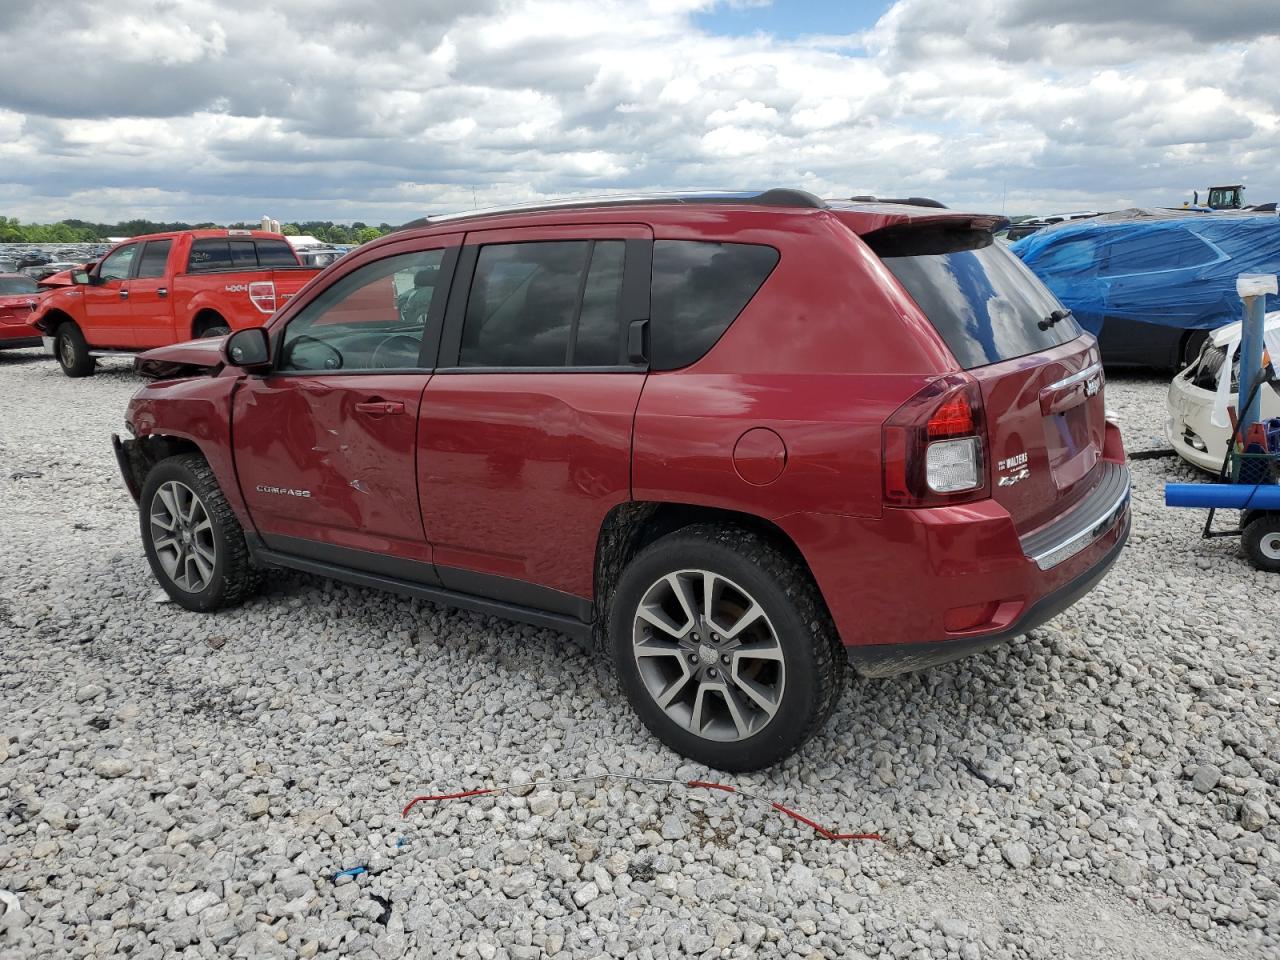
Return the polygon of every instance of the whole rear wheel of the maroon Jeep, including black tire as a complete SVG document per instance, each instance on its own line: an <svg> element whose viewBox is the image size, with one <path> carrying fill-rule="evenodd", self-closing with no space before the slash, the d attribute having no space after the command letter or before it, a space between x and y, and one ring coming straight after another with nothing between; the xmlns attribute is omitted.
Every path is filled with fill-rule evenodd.
<svg viewBox="0 0 1280 960"><path fill-rule="evenodd" d="M608 617L640 719L717 769L795 753L845 684L847 660L809 572L746 530L692 526L650 544L623 570Z"/></svg>

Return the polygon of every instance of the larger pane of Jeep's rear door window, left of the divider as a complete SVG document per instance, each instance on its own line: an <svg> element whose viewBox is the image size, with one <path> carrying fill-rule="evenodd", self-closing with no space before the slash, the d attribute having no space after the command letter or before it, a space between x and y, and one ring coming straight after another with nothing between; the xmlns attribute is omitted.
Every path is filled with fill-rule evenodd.
<svg viewBox="0 0 1280 960"><path fill-rule="evenodd" d="M590 243L480 250L462 324L463 366L564 366Z"/></svg>

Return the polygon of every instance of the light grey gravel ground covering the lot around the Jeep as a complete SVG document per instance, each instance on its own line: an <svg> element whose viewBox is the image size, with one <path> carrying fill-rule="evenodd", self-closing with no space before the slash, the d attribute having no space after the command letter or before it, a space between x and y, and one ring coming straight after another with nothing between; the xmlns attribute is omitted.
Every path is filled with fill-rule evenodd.
<svg viewBox="0 0 1280 960"><path fill-rule="evenodd" d="M549 631L302 575L216 616L159 602L108 444L136 387L0 353L4 956L1280 951L1280 662L1248 623L1275 579L1161 507L1176 461L1133 466L1130 545L1076 607L852 681L799 756L732 781L883 842L621 782L402 819L493 782L727 778ZM1165 383L1107 390L1130 449L1161 445Z"/></svg>

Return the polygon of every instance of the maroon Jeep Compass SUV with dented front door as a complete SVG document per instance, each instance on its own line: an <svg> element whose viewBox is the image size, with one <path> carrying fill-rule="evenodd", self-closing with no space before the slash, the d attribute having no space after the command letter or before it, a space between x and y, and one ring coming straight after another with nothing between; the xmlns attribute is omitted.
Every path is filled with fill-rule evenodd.
<svg viewBox="0 0 1280 960"><path fill-rule="evenodd" d="M261 329L143 355L116 439L173 599L259 571L595 635L649 728L765 767L1106 572L1092 337L998 218L800 191L412 224Z"/></svg>

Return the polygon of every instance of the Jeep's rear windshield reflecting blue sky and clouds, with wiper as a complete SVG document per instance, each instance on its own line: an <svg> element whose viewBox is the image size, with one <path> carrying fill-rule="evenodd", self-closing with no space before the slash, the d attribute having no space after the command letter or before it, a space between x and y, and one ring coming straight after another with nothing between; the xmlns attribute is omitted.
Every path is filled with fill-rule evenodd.
<svg viewBox="0 0 1280 960"><path fill-rule="evenodd" d="M965 370L1080 335L1048 288L986 230L887 228L863 239L911 294Z"/></svg>

